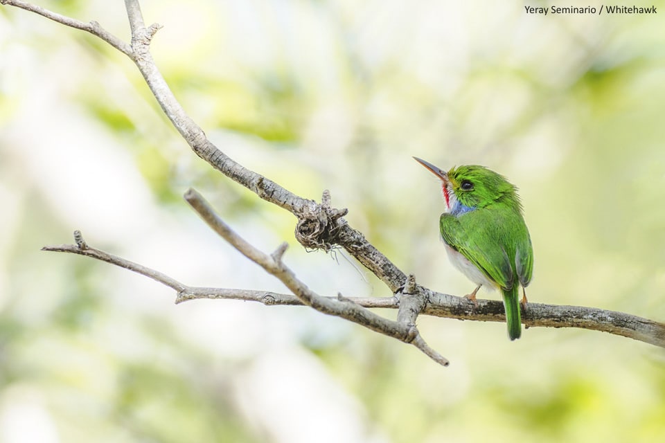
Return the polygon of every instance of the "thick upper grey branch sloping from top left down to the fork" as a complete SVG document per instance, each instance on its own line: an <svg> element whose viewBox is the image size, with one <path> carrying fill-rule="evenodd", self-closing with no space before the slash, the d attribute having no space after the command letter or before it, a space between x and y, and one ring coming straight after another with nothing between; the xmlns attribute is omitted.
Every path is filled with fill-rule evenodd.
<svg viewBox="0 0 665 443"><path fill-rule="evenodd" d="M80 21L63 17L55 12L32 6L23 1L0 0L0 2L37 12L66 26L88 30L86 24ZM406 280L405 273L369 243L360 231L349 226L342 218L346 214L346 210L337 210L330 208L330 206L323 207L323 204L319 205L313 200L295 195L274 181L233 161L209 141L203 130L181 107L152 59L150 41L159 25L154 24L149 28L145 28L139 1L125 0L125 8L132 30L130 48L127 48L124 43L122 48L116 46L117 39L115 37L112 39L105 34L99 35L99 37L118 47L136 64L164 114L197 156L204 159L222 174L236 181L236 183L256 193L261 199L276 204L295 215L299 220L296 225L296 239L306 248L322 248L327 251L331 245L342 246L356 260L387 284L391 291L396 291L398 287L404 284Z"/></svg>

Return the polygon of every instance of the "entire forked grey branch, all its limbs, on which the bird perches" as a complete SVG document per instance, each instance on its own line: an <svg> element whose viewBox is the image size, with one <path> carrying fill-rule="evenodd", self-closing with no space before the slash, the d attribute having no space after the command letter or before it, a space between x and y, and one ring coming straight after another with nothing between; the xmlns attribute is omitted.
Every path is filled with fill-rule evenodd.
<svg viewBox="0 0 665 443"><path fill-rule="evenodd" d="M109 33L96 21L85 23L21 0L0 0L0 3L35 12L71 28L85 30L127 55L143 75L161 109L195 154L225 176L254 192L261 199L276 204L295 215L297 218L295 237L305 248L323 249L324 251L330 251L330 248L333 247L344 248L382 280L391 292L399 291L400 298L396 296L389 298L346 298L343 296L329 298L313 293L283 263L285 248L278 248L271 255L258 251L233 233L219 217L214 215L209 205L193 191L187 193L186 199L204 220L224 239L233 244L238 251L284 282L294 295L241 289L189 287L158 271L91 248L85 244L80 233L75 236L76 245L46 246L44 250L85 255L141 273L175 289L177 302L196 298L234 298L260 301L266 305L308 305L326 314L340 316L382 334L414 344L442 364L447 361L429 348L418 334L415 322L420 314L461 320L505 321L504 307L499 301L478 300L477 304L473 304L465 298L437 293L421 287L416 284L412 275L407 278L406 273L398 269L368 242L360 231L352 228L344 220L346 209L332 207L328 192L323 193L321 203L317 204L317 202L295 195L274 181L245 168L219 150L186 114L152 59L150 42L161 26L159 24L145 26L139 1L125 0L132 33L129 44ZM398 318L396 321L391 321L377 316L366 309L371 307L399 309ZM522 320L527 327L594 329L665 347L665 325L630 314L588 307L529 303L524 309Z"/></svg>

